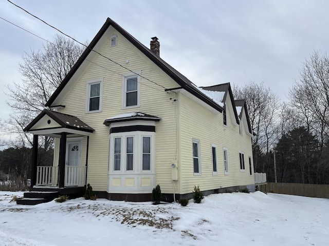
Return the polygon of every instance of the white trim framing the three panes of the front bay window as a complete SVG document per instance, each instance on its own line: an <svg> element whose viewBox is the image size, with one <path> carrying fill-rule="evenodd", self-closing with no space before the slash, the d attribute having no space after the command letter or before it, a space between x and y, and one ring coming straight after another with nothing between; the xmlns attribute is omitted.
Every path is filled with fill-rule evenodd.
<svg viewBox="0 0 329 246"><path fill-rule="evenodd" d="M120 170L114 171L114 139L121 137L121 165ZM134 137L134 166L133 170L126 170L126 139L127 137ZM151 139L151 163L150 170L142 170L142 144L143 137L150 137ZM109 137L109 167L108 174L139 174L148 173L155 174L155 133L154 132L121 132L111 133Z"/></svg>

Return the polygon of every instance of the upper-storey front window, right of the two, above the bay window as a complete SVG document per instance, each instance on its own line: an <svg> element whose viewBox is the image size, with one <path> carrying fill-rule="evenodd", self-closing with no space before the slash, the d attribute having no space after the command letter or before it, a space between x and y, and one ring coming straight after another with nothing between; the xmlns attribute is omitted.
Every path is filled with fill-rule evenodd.
<svg viewBox="0 0 329 246"><path fill-rule="evenodd" d="M136 108L140 104L140 72L123 74L122 108Z"/></svg>

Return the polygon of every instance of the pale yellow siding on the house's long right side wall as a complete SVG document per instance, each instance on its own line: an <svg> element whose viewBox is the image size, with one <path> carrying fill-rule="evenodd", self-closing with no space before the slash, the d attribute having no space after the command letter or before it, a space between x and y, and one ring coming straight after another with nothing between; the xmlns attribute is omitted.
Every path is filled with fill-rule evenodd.
<svg viewBox="0 0 329 246"><path fill-rule="evenodd" d="M222 113L210 112L185 95L180 94L179 105L181 175L184 179L181 194L190 193L194 185L202 190L213 190L252 184L248 161L248 156L252 156L251 138L247 134L240 135L239 125L232 124L229 110L225 127ZM226 107L232 107L230 101L226 102ZM199 176L193 174L192 138L200 140ZM211 144L217 147L217 175L212 172ZM224 174L223 147L228 151L229 175ZM245 154L245 172L240 171L239 151Z"/></svg>

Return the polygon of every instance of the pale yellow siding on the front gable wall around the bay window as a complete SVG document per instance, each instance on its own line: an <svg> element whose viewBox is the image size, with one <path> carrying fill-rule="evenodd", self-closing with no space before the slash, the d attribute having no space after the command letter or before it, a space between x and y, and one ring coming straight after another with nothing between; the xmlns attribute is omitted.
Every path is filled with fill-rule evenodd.
<svg viewBox="0 0 329 246"><path fill-rule="evenodd" d="M108 36L113 34L118 36L117 46L109 47L109 42L107 42L99 51L101 54L111 57L132 71L141 71L141 76L147 77L163 87L177 87L171 78L145 58L121 34L111 33ZM129 63L125 63L125 60L129 60ZM62 105L66 107L60 110L62 113L79 117L95 129L95 132L89 137L87 182L93 186L95 191L106 191L107 189L109 127L103 125L104 120L122 113L138 111L161 118L156 123L156 183L160 183L163 193L172 192L170 165L175 158L176 150L174 113L176 106L168 99L174 97L174 93L166 93L165 89L141 77L140 107L122 109L121 74L130 71L99 55L96 55L92 61L93 63L88 64L80 78L75 81L71 90L66 94L62 101ZM103 78L102 111L86 113L87 81L98 78Z"/></svg>

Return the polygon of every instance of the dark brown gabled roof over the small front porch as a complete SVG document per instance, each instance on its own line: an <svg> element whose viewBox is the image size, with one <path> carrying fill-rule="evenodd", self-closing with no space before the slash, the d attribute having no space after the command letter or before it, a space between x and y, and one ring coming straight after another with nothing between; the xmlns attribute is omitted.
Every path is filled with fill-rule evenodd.
<svg viewBox="0 0 329 246"><path fill-rule="evenodd" d="M94 129L89 127L87 124L85 124L82 120L80 120L76 116L63 114L51 110L43 110L38 116L36 116L32 122L24 128L25 132L33 131L33 126L35 126L36 123L40 119L42 119L45 115L48 115L51 119L57 122L57 124L61 128L71 129L71 130L77 130L77 131L83 131L83 132L94 132ZM50 122L49 122L50 124ZM37 129L40 130L40 129Z"/></svg>

